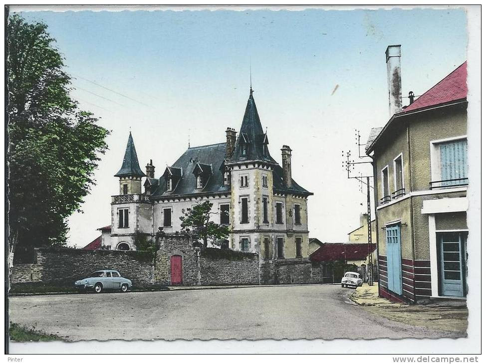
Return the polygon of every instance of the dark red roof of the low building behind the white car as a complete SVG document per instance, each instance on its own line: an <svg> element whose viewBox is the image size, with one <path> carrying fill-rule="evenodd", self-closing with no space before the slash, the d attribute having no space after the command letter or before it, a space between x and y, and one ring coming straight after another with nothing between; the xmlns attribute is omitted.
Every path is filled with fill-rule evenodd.
<svg viewBox="0 0 486 364"><path fill-rule="evenodd" d="M372 251L376 244L372 244ZM319 249L309 255L313 262L330 262L335 260L360 260L368 255L368 243L324 243Z"/></svg>

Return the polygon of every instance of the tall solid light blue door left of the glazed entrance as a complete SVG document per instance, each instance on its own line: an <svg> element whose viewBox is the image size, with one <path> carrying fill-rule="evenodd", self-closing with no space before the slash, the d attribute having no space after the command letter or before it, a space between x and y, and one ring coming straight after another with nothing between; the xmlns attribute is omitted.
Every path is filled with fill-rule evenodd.
<svg viewBox="0 0 486 364"><path fill-rule="evenodd" d="M402 294L402 250L400 225L386 227L386 255L388 272L388 289Z"/></svg>

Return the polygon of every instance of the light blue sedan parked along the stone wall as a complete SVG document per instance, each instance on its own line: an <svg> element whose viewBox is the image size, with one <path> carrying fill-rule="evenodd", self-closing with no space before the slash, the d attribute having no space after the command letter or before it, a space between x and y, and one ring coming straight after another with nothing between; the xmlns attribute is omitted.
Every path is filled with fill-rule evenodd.
<svg viewBox="0 0 486 364"><path fill-rule="evenodd" d="M128 291L132 287L132 281L123 278L116 270L97 270L89 275L88 278L74 282L74 286L79 291L93 290L101 293L103 290Z"/></svg>

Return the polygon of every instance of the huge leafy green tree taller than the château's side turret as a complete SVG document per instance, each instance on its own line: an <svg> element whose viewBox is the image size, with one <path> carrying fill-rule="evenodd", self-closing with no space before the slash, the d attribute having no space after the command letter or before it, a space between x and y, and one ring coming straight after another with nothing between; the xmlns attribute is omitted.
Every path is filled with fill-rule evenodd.
<svg viewBox="0 0 486 364"><path fill-rule="evenodd" d="M43 23L7 25L9 248L65 245L66 223L95 184L108 131L78 109Z"/></svg>

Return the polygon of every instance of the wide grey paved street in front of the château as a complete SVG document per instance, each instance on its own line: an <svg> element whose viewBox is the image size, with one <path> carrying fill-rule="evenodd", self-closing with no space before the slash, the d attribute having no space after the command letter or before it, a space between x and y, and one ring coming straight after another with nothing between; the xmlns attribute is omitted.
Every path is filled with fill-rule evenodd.
<svg viewBox="0 0 486 364"><path fill-rule="evenodd" d="M339 285L10 298L10 320L69 341L110 339L374 339L454 334L365 311Z"/></svg>

